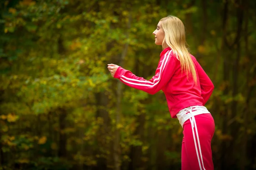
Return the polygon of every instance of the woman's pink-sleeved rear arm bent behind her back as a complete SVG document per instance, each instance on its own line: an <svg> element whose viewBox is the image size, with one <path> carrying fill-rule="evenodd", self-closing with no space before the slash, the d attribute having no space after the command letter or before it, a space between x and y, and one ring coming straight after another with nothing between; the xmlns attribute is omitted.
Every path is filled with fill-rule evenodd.
<svg viewBox="0 0 256 170"><path fill-rule="evenodd" d="M201 65L196 62L196 68L198 71L198 77L199 77L199 82L201 86L201 96L204 99L204 105L212 95L212 91L214 89L214 85L211 81L211 79L207 76L205 73L204 69L201 67Z"/></svg>

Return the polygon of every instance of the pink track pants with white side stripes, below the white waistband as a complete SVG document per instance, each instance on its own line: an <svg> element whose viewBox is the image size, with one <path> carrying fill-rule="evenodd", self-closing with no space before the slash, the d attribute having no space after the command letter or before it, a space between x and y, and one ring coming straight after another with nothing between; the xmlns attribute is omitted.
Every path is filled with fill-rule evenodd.
<svg viewBox="0 0 256 170"><path fill-rule="evenodd" d="M181 170L213 170L211 141L215 123L209 113L193 116L183 124Z"/></svg>

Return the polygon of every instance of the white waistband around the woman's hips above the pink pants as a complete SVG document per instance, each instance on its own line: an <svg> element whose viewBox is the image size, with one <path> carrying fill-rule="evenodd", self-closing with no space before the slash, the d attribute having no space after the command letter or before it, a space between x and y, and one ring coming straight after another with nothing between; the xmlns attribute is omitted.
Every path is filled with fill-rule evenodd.
<svg viewBox="0 0 256 170"><path fill-rule="evenodd" d="M204 113L210 113L206 107L204 106L190 106L188 108L184 108L180 110L177 113L177 118L180 122L180 125L183 127L183 124L188 120L189 118L199 115L199 114L204 114Z"/></svg>

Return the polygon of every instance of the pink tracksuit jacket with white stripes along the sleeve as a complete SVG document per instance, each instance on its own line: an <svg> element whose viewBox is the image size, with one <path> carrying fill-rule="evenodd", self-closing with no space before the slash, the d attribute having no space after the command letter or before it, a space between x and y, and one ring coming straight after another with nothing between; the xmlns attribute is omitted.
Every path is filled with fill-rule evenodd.
<svg viewBox="0 0 256 170"><path fill-rule="evenodd" d="M186 72L181 73L180 61L171 48L165 48L160 54L155 76L150 80L135 76L131 71L120 67L116 70L114 78L119 79L125 85L155 94L162 90L166 96L169 111L172 118L183 108L189 106L204 106L212 94L214 85L204 72L194 56L198 83L194 83L192 76L187 78Z"/></svg>

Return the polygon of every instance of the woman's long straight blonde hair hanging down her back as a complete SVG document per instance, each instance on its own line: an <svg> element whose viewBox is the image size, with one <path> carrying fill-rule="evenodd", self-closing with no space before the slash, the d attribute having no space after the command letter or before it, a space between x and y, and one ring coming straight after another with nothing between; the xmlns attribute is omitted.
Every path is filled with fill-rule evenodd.
<svg viewBox="0 0 256 170"><path fill-rule="evenodd" d="M164 17L160 21L165 33L165 41L163 41L162 46L166 43L172 48L173 53L180 60L181 73L185 71L187 78L192 74L194 82L197 84L195 65L186 48L185 27L182 21L172 15Z"/></svg>

